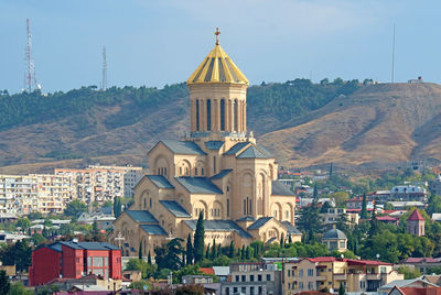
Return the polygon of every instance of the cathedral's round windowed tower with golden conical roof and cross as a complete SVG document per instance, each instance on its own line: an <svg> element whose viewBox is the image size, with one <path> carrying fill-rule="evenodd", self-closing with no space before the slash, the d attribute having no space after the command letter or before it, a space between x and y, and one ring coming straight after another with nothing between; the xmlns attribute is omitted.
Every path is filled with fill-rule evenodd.
<svg viewBox="0 0 441 295"><path fill-rule="evenodd" d="M248 79L219 45L216 44L186 80L191 102L191 136L211 133L245 138L247 133Z"/></svg>

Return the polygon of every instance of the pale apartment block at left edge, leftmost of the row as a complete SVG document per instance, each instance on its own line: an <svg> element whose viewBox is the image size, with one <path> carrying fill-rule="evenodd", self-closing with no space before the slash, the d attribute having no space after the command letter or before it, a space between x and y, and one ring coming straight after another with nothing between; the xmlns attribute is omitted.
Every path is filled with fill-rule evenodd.
<svg viewBox="0 0 441 295"><path fill-rule="evenodd" d="M0 175L0 215L28 215L39 209L37 177Z"/></svg>

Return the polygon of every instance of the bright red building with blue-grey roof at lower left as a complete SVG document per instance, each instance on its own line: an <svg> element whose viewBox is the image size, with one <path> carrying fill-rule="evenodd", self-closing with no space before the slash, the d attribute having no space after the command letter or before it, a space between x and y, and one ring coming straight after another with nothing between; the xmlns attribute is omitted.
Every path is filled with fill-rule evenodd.
<svg viewBox="0 0 441 295"><path fill-rule="evenodd" d="M104 242L54 242L32 252L29 284L43 285L62 278L95 274L105 280L121 280L121 250Z"/></svg>

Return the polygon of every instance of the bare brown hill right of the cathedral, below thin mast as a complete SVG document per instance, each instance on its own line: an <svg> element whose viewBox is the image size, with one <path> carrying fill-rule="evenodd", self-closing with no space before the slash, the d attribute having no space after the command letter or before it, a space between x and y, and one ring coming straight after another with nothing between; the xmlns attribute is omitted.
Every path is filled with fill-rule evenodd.
<svg viewBox="0 0 441 295"><path fill-rule="evenodd" d="M441 86L380 84L337 97L260 138L287 166L441 160Z"/></svg>

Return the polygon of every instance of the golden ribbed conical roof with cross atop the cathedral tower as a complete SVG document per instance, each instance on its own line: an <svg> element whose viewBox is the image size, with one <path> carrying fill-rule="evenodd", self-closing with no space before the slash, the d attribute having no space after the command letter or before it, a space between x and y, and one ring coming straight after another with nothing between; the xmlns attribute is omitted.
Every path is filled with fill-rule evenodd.
<svg viewBox="0 0 441 295"><path fill-rule="evenodd" d="M215 33L216 45L186 80L187 85L204 83L249 84L247 77L245 77L240 69L220 47L218 42L219 33L220 32L217 30Z"/></svg>

